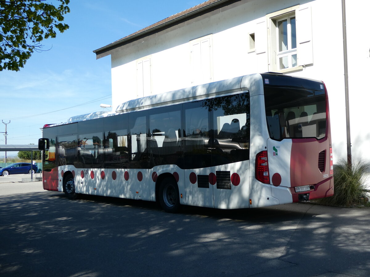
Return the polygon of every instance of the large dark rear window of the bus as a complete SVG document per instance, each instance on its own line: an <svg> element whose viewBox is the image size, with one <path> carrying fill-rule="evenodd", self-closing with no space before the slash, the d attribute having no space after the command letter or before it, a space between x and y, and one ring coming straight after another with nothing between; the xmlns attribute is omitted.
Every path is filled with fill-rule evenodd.
<svg viewBox="0 0 370 277"><path fill-rule="evenodd" d="M326 134L326 98L323 84L264 86L270 138L323 138ZM305 83L307 85L307 83Z"/></svg>

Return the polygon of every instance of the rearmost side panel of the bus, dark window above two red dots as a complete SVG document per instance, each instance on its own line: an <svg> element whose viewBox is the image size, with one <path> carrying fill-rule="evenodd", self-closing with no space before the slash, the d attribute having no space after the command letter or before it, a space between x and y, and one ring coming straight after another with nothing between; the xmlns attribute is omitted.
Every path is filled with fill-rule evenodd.
<svg viewBox="0 0 370 277"><path fill-rule="evenodd" d="M211 151L214 207L249 207L249 94L222 96L212 103Z"/></svg>

